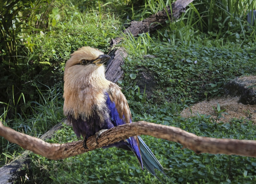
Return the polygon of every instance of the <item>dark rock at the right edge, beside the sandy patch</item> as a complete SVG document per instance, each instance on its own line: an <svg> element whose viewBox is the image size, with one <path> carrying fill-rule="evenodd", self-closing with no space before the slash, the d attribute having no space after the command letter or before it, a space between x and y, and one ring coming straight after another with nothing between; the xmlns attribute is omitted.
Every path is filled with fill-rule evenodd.
<svg viewBox="0 0 256 184"><path fill-rule="evenodd" d="M223 88L225 95L238 96L242 104L256 105L256 76L236 77Z"/></svg>

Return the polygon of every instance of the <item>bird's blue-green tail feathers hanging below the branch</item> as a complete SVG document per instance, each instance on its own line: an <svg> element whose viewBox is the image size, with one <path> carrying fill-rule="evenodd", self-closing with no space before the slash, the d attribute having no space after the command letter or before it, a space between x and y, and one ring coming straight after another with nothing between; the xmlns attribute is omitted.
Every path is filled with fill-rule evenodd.
<svg viewBox="0 0 256 184"><path fill-rule="evenodd" d="M161 171L166 175L164 172L163 167L159 163L159 161L156 159L155 155L152 153L152 151L148 148L148 146L144 143L144 141L138 136L139 144L140 144L140 154L142 157L142 163L143 165L148 169L148 171L156 176L155 169L158 171ZM166 175L167 176L167 175ZM156 176L157 177L157 176ZM168 177L168 176L167 176ZM168 177L169 178L169 177ZM157 178L159 180L159 178ZM170 179L170 178L169 178ZM160 180L161 181L161 180Z"/></svg>

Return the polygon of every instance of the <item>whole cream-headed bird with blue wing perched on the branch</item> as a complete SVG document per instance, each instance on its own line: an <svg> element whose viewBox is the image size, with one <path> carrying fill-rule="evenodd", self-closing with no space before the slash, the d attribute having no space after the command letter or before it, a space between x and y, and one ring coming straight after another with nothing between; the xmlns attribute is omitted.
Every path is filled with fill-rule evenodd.
<svg viewBox="0 0 256 184"><path fill-rule="evenodd" d="M131 111L121 87L105 78L103 64L110 56L89 46L78 48L70 56L64 70L63 112L76 136L82 136L86 143L88 137L101 130L132 123ZM141 168L145 166L153 175L156 176L155 169L165 174L140 136L132 136L103 148L113 146L132 151Z"/></svg>

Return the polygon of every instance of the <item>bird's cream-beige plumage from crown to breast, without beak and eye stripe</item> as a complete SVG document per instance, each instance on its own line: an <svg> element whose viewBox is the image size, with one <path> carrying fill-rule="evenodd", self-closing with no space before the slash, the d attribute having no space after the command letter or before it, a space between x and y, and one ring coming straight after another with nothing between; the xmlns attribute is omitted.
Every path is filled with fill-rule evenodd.
<svg viewBox="0 0 256 184"><path fill-rule="evenodd" d="M108 89L110 81L105 78L103 65L80 65L82 60L93 61L103 55L98 49L82 47L71 54L64 71L64 107L65 115L72 114L75 119L85 119L92 113L95 104L104 104L103 91ZM100 107L99 107L100 108Z"/></svg>

